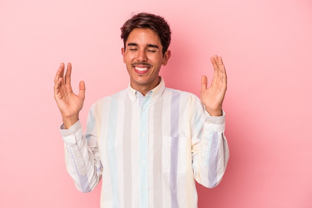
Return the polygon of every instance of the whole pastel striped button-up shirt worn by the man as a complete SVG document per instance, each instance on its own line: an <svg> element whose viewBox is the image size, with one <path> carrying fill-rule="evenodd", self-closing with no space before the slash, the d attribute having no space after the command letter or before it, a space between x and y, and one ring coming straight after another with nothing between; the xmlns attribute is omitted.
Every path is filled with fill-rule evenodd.
<svg viewBox="0 0 312 208"><path fill-rule="evenodd" d="M166 88L146 96L128 89L97 101L85 135L80 121L65 130L68 173L82 192L101 178L101 208L197 208L196 180L213 188L229 150L225 117L212 117L200 99Z"/></svg>

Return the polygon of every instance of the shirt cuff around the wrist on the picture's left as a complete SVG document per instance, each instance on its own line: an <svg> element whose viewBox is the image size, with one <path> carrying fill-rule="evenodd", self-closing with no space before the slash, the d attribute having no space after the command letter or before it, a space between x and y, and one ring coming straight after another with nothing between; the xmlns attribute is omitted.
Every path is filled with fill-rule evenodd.
<svg viewBox="0 0 312 208"><path fill-rule="evenodd" d="M83 136L80 120L69 127L69 129L65 129L64 124L62 124L59 131L66 144L76 144L76 141L81 140L81 137Z"/></svg>

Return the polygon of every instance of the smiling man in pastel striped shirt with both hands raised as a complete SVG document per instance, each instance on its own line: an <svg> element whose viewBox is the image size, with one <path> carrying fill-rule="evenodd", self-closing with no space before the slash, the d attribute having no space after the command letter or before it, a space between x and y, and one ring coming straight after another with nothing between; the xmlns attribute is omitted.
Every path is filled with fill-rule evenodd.
<svg viewBox="0 0 312 208"><path fill-rule="evenodd" d="M67 170L82 192L103 177L102 208L196 208L195 180L218 185L229 157L222 58L211 57L212 84L207 88L202 76L199 99L166 88L159 77L171 56L171 31L162 17L139 13L121 30L129 87L92 105L85 135L78 119L85 84L79 83L78 95L72 92L70 63L65 76L63 63L56 73Z"/></svg>

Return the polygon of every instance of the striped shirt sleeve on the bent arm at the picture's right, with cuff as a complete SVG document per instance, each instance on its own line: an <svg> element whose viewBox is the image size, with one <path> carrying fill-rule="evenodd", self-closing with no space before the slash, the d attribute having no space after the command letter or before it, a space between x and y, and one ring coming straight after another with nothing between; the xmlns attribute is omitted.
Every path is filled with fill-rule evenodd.
<svg viewBox="0 0 312 208"><path fill-rule="evenodd" d="M221 182L229 159L225 113L222 111L222 116L216 117L203 111L197 111L193 120L192 167L199 184L214 188Z"/></svg>

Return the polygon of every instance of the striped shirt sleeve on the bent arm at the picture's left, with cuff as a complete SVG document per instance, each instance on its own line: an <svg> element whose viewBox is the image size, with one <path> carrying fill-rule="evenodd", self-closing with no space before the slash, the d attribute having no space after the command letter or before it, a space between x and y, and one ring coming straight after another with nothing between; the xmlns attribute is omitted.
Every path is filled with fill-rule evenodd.
<svg viewBox="0 0 312 208"><path fill-rule="evenodd" d="M83 134L79 120L68 130L62 124L60 133L64 140L65 165L69 175L79 191L92 191L101 180L103 167L100 162L95 119L91 111L86 135Z"/></svg>

